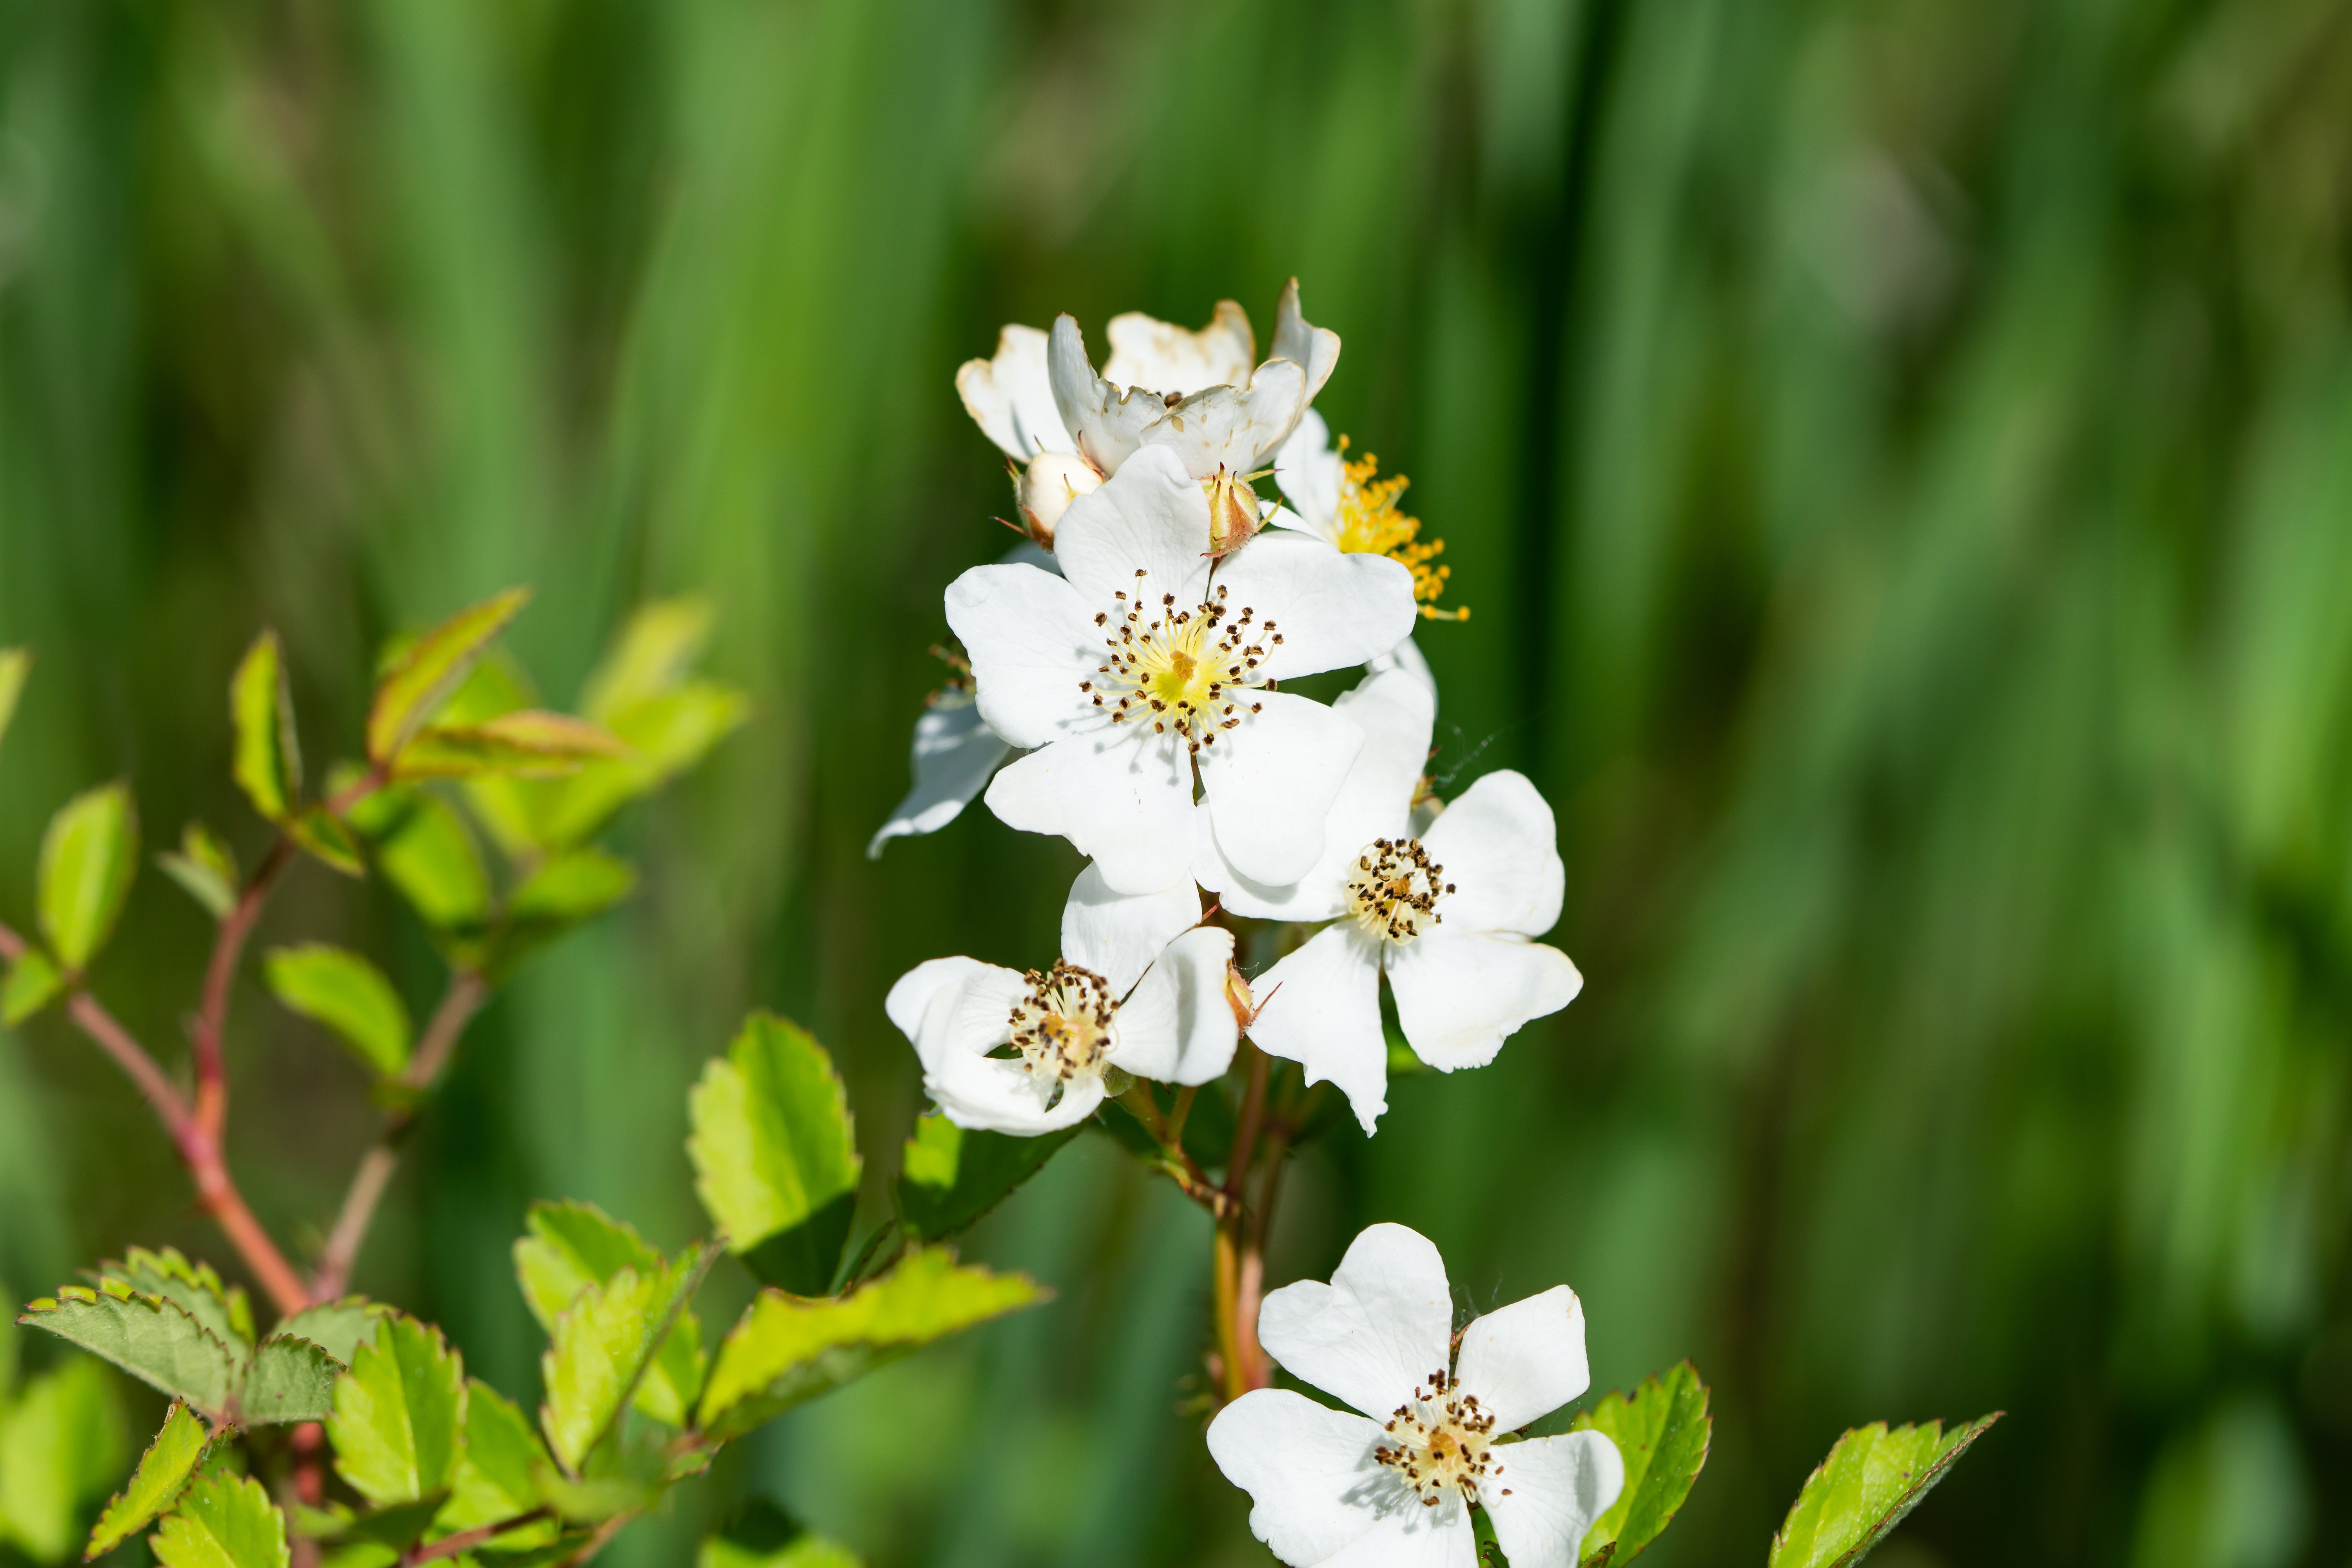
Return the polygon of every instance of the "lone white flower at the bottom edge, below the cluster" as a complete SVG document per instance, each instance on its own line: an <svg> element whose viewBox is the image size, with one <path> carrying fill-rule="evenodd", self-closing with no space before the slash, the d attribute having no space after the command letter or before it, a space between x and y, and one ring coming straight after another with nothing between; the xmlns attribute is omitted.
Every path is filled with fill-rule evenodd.
<svg viewBox="0 0 2352 1568"><path fill-rule="evenodd" d="M1451 1352L1454 1295L1430 1241L1402 1225L1355 1239L1331 1284L1265 1298L1258 1338L1303 1382L1242 1394L1209 1422L1209 1455L1249 1493L1249 1528L1291 1568L1477 1568L1470 1505L1512 1568L1576 1568L1625 1488L1602 1432L1508 1441L1585 1392L1576 1293L1489 1312Z"/></svg>

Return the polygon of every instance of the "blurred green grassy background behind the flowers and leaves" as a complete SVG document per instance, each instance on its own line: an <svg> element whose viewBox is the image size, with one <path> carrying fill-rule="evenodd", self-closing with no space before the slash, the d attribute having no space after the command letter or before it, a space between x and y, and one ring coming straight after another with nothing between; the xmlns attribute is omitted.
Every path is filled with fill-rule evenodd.
<svg viewBox="0 0 2352 1568"><path fill-rule="evenodd" d="M1002 552L950 376L1000 322L1345 339L1414 477L1442 769L1559 809L1585 997L1310 1152L1275 1274L1369 1220L1555 1281L1599 1387L1691 1354L1672 1563L1759 1563L1830 1439L2011 1418L1879 1561L2352 1559L2352 7L2340 0L0 0L0 914L108 776L254 853L228 670L355 745L379 637L515 581L569 701L644 595L760 717L640 813L637 903L468 1039L358 1284L529 1396L534 1197L696 1222L684 1086L818 1030L873 1166L882 1018L1051 957L1075 858L985 811L863 858ZM1263 341L1263 336L1261 336ZM437 985L299 870L263 940ZM101 990L179 1048L207 926ZM287 1237L372 1126L247 985L233 1154ZM308 1232L315 1237L315 1229ZM0 1276L228 1260L132 1091L0 1037ZM1207 1229L1082 1140L974 1239L1061 1300L790 1418L880 1566L1265 1561L1181 1410Z"/></svg>

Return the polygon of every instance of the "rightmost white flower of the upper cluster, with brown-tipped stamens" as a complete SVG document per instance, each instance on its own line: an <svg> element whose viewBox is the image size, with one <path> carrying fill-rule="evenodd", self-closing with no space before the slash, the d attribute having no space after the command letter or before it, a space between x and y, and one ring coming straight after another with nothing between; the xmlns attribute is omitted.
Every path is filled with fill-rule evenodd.
<svg viewBox="0 0 2352 1568"><path fill-rule="evenodd" d="M1334 922L1251 980L1261 1004L1249 1037L1301 1063L1310 1084L1338 1084L1369 1133L1388 1110L1383 971L1406 1044L1439 1072L1491 1063L1524 1023L1573 1001L1583 976L1529 940L1559 922L1566 884L1536 785L1486 773L1414 837L1432 689L1383 670L1334 708L1362 726L1364 750L1331 802L1315 865L1287 886L1256 879L1214 823L1197 823L1192 867L1235 914Z"/></svg>

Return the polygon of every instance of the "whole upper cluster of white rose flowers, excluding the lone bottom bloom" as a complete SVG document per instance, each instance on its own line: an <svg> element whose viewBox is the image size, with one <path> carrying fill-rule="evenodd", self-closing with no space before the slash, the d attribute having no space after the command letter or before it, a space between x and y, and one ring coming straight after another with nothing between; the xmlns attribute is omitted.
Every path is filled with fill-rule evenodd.
<svg viewBox="0 0 2352 1568"><path fill-rule="evenodd" d="M1451 806L1425 788L1425 555L1385 552L1402 482L1343 463L1310 411L1338 336L1301 315L1298 284L1263 362L1232 301L1200 331L1122 315L1108 336L1096 371L1073 317L1007 327L957 376L1016 463L1030 538L948 588L969 679L924 715L917 790L877 835L936 830L985 788L997 818L1091 865L1056 961L936 959L889 1013L962 1126L1049 1133L1129 1077L1204 1084L1247 1025L1369 1133L1388 1110L1383 973L1406 1044L1444 1072L1576 997L1576 966L1531 940L1559 919L1552 813L1519 773ZM1258 501L1265 465L1296 510ZM1367 677L1336 703L1282 691L1348 665ZM1232 938L1200 926L1200 889L1319 931L1228 983Z"/></svg>

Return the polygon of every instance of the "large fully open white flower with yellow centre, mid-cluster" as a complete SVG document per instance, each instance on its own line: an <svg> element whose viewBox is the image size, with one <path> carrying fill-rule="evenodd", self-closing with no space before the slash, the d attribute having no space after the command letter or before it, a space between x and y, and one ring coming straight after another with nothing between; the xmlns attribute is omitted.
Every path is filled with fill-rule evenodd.
<svg viewBox="0 0 2352 1568"><path fill-rule="evenodd" d="M1148 893L1190 870L1197 773L1242 875L1305 875L1362 731L1275 682L1404 642L1411 574L1298 534L1211 559L1209 498L1167 447L1073 501L1054 559L1063 576L974 567L948 588L981 717L1035 748L995 776L988 806Z"/></svg>

